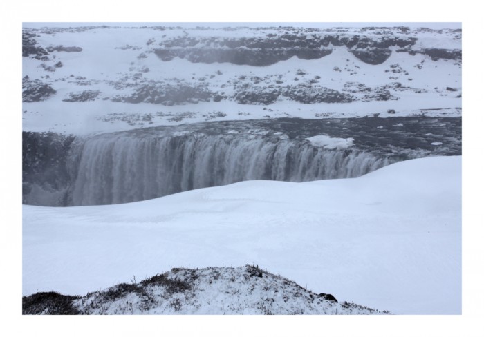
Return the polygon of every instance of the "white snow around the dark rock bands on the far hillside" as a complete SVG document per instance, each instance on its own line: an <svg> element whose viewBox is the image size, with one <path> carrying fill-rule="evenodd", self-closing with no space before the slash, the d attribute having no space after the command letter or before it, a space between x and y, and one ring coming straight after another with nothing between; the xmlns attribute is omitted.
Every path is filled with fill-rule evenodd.
<svg viewBox="0 0 484 337"><path fill-rule="evenodd" d="M77 46L82 52L53 52L55 59L47 63L62 61L61 68L55 72L47 72L39 65L39 60L23 57L23 76L30 79L41 79L50 84L57 93L44 102L25 102L22 106L26 111L23 115L24 131L54 131L84 135L87 133L102 133L120 131L146 126L173 125L187 122L201 122L207 115L218 111L225 117L214 117L213 120L260 119L274 117L363 117L379 113L387 117L387 110L395 110L398 116L422 115L420 109L443 109L425 112L426 115L460 116L461 99L461 68L456 61L438 59L432 61L427 55L409 55L407 52L393 52L382 64L366 64L357 59L346 46L328 46L333 48L330 55L321 59L303 60L292 57L270 66L239 66L230 63L202 64L192 63L175 57L171 61L162 61L153 52L159 48L160 41L183 36L189 37L219 36L223 37L257 37L270 34L272 30L164 30L151 28L97 28L82 32L55 32L41 34L37 42L48 46ZM334 34L328 33L328 34ZM360 30L350 28L346 35L362 34ZM372 36L371 31L364 35ZM395 33L398 35L398 33ZM412 32L409 36L418 37L415 48L460 48L461 39L453 39L448 32ZM147 45L147 41L153 43ZM422 41L420 41L422 39ZM427 46L428 44L428 46ZM139 56L144 53L146 57ZM49 63L50 62L50 63ZM402 73L392 73L392 65L398 64ZM417 67L420 68L417 68ZM415 90L394 90L389 88L391 95L398 100L388 101L355 101L351 103L315 103L301 104L279 97L277 102L268 106L257 104L237 104L234 100L223 99L221 102L187 103L178 106L162 106L161 104L124 104L111 102L109 98L121 95L132 88L116 89L115 82L125 85L139 85L140 79L134 79L133 74L142 72L142 79L198 86L203 84L208 89L224 92L230 97L235 92L234 82L241 76L246 77L251 84L252 77L264 79L257 86L273 85L280 76L283 86L297 86L301 83L320 77L317 85L334 90L344 89L349 82L362 83L370 88L392 85L400 82ZM339 69L338 71L335 68ZM297 75L303 71L303 75ZM404 75L407 73L407 75ZM73 75L73 77L71 77ZM48 76L48 79L47 77ZM86 84L79 85L76 77L85 77ZM266 77L268 79L266 79ZM395 77L395 78L390 78ZM243 80L240 81L243 83ZM256 86L256 87L257 87ZM447 87L456 88L458 92L449 93ZM100 97L93 102L63 102L69 93L80 93L83 90L100 90ZM420 90L420 93L416 93ZM106 98L108 100L103 100ZM157 117L156 113L194 113L193 117L178 122ZM110 114L138 115L136 124L127 124L113 118ZM151 123L143 123L142 116L151 114ZM107 122L106 122L107 120Z"/></svg>

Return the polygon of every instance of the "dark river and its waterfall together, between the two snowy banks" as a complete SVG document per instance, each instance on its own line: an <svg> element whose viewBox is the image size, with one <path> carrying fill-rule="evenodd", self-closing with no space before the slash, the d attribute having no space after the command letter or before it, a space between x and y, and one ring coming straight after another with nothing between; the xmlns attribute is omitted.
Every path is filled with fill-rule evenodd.
<svg viewBox="0 0 484 337"><path fill-rule="evenodd" d="M270 119L159 126L85 138L24 133L24 204L158 198L243 180L358 177L429 155L460 155L460 118ZM349 137L328 149L306 138Z"/></svg>

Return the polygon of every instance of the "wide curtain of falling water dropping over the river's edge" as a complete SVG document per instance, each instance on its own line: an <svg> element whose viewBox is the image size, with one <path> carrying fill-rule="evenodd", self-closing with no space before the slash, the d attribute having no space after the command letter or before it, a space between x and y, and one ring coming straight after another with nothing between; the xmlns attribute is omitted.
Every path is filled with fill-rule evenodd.
<svg viewBox="0 0 484 337"><path fill-rule="evenodd" d="M72 204L119 204L243 180L358 177L389 164L358 150L254 135L115 133L75 146Z"/></svg>

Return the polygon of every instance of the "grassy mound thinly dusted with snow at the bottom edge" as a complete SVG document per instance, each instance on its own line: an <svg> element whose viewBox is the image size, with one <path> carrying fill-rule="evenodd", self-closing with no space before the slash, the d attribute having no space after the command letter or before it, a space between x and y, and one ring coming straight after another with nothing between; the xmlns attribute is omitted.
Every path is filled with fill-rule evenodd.
<svg viewBox="0 0 484 337"><path fill-rule="evenodd" d="M388 314L338 303L257 266L174 268L140 283L121 283L83 298L37 293L24 314Z"/></svg>

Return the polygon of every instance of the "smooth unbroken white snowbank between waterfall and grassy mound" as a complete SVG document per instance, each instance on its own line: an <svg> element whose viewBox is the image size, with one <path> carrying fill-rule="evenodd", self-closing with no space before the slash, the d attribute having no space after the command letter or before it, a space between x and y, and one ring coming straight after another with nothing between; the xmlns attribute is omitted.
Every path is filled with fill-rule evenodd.
<svg viewBox="0 0 484 337"><path fill-rule="evenodd" d="M23 293L258 264L395 314L461 312L461 157L359 178L249 181L109 206L23 206Z"/></svg>

